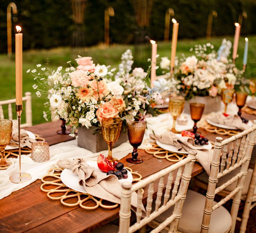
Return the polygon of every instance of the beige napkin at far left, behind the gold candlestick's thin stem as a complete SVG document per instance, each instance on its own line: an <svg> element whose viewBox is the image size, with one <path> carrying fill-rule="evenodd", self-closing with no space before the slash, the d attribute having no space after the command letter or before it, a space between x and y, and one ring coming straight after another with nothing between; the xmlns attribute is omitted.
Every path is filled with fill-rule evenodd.
<svg viewBox="0 0 256 233"><path fill-rule="evenodd" d="M31 149L32 143L36 142L35 139L29 138L26 130L20 130L20 145L21 147L28 146ZM10 146L19 146L19 133L17 128L12 129L12 139L9 143Z"/></svg>

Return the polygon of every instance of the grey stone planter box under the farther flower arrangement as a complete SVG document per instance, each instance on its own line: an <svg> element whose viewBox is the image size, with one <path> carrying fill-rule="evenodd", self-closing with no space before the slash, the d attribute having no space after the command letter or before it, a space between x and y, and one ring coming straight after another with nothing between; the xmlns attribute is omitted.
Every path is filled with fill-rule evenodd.
<svg viewBox="0 0 256 233"><path fill-rule="evenodd" d="M184 113L190 114L190 103L200 103L205 104L204 113L208 114L211 112L218 112L221 110L221 98L220 96L195 96L191 100L185 102Z"/></svg>

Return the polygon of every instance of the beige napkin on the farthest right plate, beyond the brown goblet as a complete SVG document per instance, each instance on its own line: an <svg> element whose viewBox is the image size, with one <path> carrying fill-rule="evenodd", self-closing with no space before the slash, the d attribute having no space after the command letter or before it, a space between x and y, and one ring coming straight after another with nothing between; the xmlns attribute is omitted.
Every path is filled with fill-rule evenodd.
<svg viewBox="0 0 256 233"><path fill-rule="evenodd" d="M246 123L243 123L240 116L237 115L224 116L222 113L212 113L210 116L208 116L208 119L217 124L224 124L230 127L237 127L238 129L241 130L250 128L250 126Z"/></svg>

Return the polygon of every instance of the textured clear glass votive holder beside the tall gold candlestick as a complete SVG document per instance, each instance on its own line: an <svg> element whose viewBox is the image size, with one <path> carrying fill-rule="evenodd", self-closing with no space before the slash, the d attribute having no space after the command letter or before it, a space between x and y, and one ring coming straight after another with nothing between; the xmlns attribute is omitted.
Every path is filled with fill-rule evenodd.
<svg viewBox="0 0 256 233"><path fill-rule="evenodd" d="M49 144L45 141L32 143L31 158L34 162L45 162L50 159Z"/></svg>

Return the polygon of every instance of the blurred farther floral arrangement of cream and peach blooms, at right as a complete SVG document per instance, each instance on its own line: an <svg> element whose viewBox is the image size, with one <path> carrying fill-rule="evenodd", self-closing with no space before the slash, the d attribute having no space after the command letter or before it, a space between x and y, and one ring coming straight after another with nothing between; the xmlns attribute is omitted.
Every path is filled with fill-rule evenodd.
<svg viewBox="0 0 256 233"><path fill-rule="evenodd" d="M223 89L239 85L243 71L228 59L231 42L223 39L218 51L210 43L195 45L195 55L183 56L175 72L176 90L186 100L194 96L216 97Z"/></svg>

